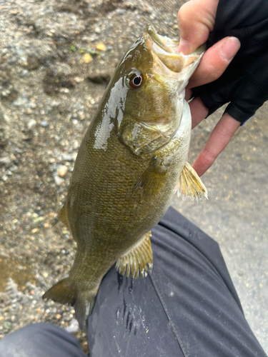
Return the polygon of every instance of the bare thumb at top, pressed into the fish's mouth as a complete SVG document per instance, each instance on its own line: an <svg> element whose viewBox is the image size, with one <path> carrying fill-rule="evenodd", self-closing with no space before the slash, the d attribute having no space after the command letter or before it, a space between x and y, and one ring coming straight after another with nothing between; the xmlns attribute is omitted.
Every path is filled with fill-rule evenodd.
<svg viewBox="0 0 268 357"><path fill-rule="evenodd" d="M192 54L209 37L219 0L191 0L179 9L178 19L181 30L179 52Z"/></svg>

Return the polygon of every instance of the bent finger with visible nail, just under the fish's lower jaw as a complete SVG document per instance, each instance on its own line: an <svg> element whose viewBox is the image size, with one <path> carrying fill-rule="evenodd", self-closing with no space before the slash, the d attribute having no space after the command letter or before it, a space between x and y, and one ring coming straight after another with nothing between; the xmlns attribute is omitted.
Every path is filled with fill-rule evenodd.
<svg viewBox="0 0 268 357"><path fill-rule="evenodd" d="M189 80L187 89L216 81L227 69L239 48L240 41L236 37L225 37L210 47Z"/></svg>

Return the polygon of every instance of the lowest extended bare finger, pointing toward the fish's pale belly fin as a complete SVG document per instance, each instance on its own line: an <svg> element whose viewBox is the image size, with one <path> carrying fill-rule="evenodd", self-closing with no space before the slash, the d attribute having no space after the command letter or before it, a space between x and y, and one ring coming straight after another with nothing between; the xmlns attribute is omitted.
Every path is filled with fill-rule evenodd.
<svg viewBox="0 0 268 357"><path fill-rule="evenodd" d="M201 151L196 161L194 161L193 168L197 171L199 176L202 176L207 169L214 163L217 156L229 144L232 136L240 126L240 122L225 113L214 127L212 134L209 136L207 144Z"/></svg>

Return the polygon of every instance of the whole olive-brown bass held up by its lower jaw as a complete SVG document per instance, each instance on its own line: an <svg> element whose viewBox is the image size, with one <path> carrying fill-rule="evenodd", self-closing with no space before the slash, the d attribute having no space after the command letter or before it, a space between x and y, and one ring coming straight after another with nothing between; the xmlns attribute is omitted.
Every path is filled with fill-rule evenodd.
<svg viewBox="0 0 268 357"><path fill-rule="evenodd" d="M207 197L187 163L192 119L185 87L202 59L149 24L124 54L81 142L59 220L74 237L69 274L44 293L74 306L81 329L111 266L152 271L151 230L174 193Z"/></svg>

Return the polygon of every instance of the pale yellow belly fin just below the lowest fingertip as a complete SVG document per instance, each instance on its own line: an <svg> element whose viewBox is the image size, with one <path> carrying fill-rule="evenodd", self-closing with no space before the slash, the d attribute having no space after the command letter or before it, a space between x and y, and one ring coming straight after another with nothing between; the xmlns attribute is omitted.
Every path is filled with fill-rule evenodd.
<svg viewBox="0 0 268 357"><path fill-rule="evenodd" d="M204 183L202 183L196 171L194 171L192 166L188 163L185 164L182 174L179 176L177 194L178 197L182 194L182 196L184 196L183 199L189 196L192 201L196 198L197 202L199 199L202 200L202 194L207 198L207 188L204 186Z"/></svg>

